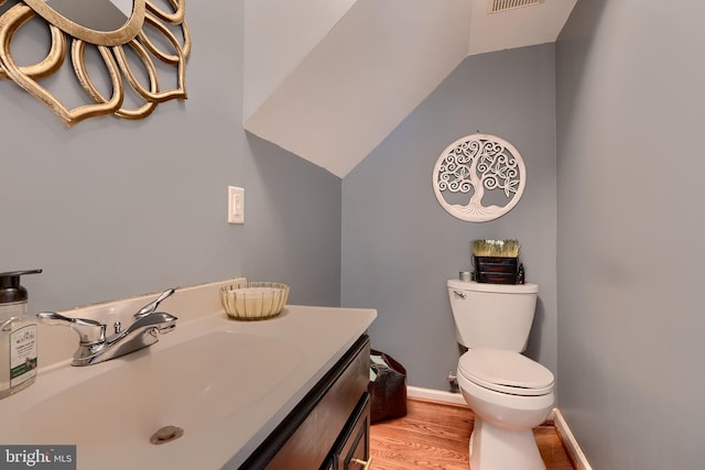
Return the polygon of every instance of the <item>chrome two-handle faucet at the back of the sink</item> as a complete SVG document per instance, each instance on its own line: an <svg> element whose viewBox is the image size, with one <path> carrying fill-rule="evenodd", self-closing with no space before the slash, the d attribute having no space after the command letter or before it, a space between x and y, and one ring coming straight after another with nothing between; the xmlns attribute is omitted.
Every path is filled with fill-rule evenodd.
<svg viewBox="0 0 705 470"><path fill-rule="evenodd" d="M78 349L72 365L90 365L119 358L159 341L160 334L176 328L177 318L164 311L156 311L159 304L175 291L164 291L132 315L132 324L122 328L120 321L113 324L113 335L106 337L107 325L88 318L70 318L54 311L36 314L36 318L47 325L62 325L78 334Z"/></svg>

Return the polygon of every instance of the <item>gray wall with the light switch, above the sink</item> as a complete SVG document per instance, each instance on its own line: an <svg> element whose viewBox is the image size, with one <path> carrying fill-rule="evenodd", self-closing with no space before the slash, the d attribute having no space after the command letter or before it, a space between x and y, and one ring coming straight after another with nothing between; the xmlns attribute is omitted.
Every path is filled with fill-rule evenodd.
<svg viewBox="0 0 705 470"><path fill-rule="evenodd" d="M23 282L31 310L236 275L339 304L340 179L242 130L242 1L186 17L189 99L147 120L66 129L0 81L0 271L44 269ZM246 189L245 226L227 223L228 185Z"/></svg>

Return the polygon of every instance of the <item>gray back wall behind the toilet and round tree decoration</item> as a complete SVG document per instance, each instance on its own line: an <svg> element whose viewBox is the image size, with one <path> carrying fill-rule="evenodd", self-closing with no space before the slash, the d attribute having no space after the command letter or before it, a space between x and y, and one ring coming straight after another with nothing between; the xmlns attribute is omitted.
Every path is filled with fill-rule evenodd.
<svg viewBox="0 0 705 470"><path fill-rule="evenodd" d="M517 238L540 302L528 354L556 370L554 46L465 59L343 181L341 303L375 307L372 346L409 384L447 390L458 348L446 280L469 269L477 238ZM527 165L521 201L503 217L465 222L437 203L432 173L464 135L499 135Z"/></svg>

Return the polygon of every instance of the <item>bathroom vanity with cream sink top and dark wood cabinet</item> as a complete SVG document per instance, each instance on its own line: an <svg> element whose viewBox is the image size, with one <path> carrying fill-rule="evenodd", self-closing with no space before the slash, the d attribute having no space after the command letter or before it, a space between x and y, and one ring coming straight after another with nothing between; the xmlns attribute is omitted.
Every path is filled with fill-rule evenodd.
<svg viewBox="0 0 705 470"><path fill-rule="evenodd" d="M217 295L229 282L177 289L160 307L178 317L172 332L99 364L70 367L76 335L40 325L36 382L0 400L0 442L76 445L78 469L365 468L376 310L234 321ZM117 318L150 298L64 315ZM150 441L171 427L183 434Z"/></svg>

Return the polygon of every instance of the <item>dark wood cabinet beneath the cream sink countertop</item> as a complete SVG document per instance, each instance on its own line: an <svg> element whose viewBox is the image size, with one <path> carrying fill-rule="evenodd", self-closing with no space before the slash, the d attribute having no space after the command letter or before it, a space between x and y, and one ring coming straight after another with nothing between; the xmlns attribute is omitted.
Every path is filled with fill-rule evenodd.
<svg viewBox="0 0 705 470"><path fill-rule="evenodd" d="M361 336L240 466L241 470L365 468L370 341Z"/></svg>

